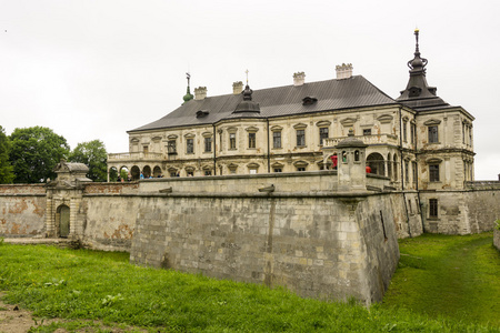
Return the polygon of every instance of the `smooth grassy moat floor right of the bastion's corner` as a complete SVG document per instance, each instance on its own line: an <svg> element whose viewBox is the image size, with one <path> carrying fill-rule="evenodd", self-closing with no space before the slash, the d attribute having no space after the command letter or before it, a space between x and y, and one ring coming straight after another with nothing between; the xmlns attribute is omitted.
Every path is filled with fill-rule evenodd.
<svg viewBox="0 0 500 333"><path fill-rule="evenodd" d="M424 234L400 241L400 252L382 307L500 326L500 252L492 232Z"/></svg>

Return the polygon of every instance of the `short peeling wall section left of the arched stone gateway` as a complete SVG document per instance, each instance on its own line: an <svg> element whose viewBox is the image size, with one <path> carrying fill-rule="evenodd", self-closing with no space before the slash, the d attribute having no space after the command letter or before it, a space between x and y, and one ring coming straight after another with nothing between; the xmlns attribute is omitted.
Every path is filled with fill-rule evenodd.
<svg viewBox="0 0 500 333"><path fill-rule="evenodd" d="M46 204L43 184L0 185L0 236L42 236Z"/></svg>

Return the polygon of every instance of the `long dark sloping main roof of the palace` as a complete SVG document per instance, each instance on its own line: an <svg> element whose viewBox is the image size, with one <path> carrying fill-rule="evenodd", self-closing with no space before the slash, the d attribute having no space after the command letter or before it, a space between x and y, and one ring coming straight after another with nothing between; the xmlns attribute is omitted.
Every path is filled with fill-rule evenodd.
<svg viewBox="0 0 500 333"><path fill-rule="evenodd" d="M317 102L303 105L306 97L314 97ZM203 100L190 100L166 117L129 132L157 130L163 128L212 124L224 119L271 118L294 115L330 110L394 104L396 101L380 91L361 75L342 80L309 82L302 85L284 85L253 90L252 101L259 103L260 113L233 113L243 100L240 94L208 97ZM209 111L198 117L200 110Z"/></svg>

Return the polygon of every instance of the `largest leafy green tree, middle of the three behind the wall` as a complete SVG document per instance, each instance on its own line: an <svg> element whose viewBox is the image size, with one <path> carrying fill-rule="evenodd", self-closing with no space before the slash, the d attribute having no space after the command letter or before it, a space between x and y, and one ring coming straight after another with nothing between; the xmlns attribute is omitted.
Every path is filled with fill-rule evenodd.
<svg viewBox="0 0 500 333"><path fill-rule="evenodd" d="M39 183L54 179L53 168L70 150L63 137L42 127L16 129L10 142L14 183Z"/></svg>

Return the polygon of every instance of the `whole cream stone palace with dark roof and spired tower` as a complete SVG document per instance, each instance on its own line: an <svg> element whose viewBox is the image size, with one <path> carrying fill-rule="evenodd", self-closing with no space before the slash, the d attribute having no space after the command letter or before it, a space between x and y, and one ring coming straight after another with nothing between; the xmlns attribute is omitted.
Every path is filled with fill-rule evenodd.
<svg viewBox="0 0 500 333"><path fill-rule="evenodd" d="M391 188L461 190L473 180L474 118L429 87L414 34L410 79L396 100L352 75L351 64L337 65L331 80L306 82L299 72L290 85L234 82L217 97L204 87L192 95L188 75L183 104L129 131L129 152L109 154L108 170L126 168L133 180L334 170L336 147L352 131L367 144L367 172Z"/></svg>

